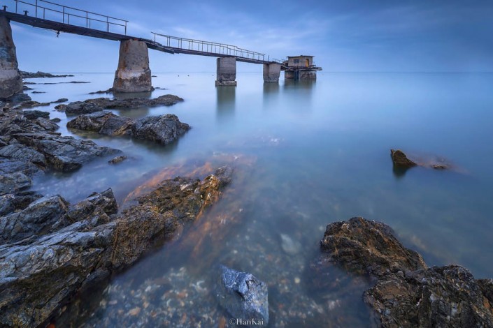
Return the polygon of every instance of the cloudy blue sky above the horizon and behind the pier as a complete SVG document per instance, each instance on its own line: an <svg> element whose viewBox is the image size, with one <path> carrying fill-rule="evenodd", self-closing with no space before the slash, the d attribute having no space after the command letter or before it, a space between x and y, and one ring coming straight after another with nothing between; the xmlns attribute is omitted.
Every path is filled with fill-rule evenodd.
<svg viewBox="0 0 493 328"><path fill-rule="evenodd" d="M154 31L237 45L276 59L310 54L328 72L493 71L491 0L52 1L128 20L131 36L152 38ZM12 0L1 2L15 8ZM57 37L54 31L11 25L21 70L113 72L117 67L117 41ZM215 58L150 50L150 68L214 72ZM238 63L237 70L262 71L262 66Z"/></svg>

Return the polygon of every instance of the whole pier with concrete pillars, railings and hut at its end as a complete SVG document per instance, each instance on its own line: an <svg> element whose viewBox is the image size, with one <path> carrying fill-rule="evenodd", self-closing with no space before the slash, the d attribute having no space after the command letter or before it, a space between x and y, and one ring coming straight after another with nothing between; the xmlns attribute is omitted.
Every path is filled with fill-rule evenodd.
<svg viewBox="0 0 493 328"><path fill-rule="evenodd" d="M294 57L280 61L260 52L224 43L155 32L151 32L152 38L130 36L127 33L127 20L45 0L2 1L0 6L0 98L22 91L10 22L50 29L57 33L120 41L120 57L113 82L113 90L120 92L152 90L149 49L168 54L216 57L216 86L236 86L236 61L263 65L264 82L269 83L278 82L281 71L285 72L287 80L314 80L316 70L322 69L314 66L313 62L310 67L294 67L290 62Z"/></svg>

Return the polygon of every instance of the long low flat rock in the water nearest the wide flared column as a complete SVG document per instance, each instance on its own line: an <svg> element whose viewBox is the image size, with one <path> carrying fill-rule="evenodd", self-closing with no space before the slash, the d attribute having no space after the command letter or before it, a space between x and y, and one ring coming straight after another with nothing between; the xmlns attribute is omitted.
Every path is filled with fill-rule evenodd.
<svg viewBox="0 0 493 328"><path fill-rule="evenodd" d="M166 94L154 99L148 98L128 98L128 99L110 99L110 98L95 98L87 99L85 101L76 101L66 105L57 105L55 109L60 112L65 112L69 115L90 114L94 112L101 112L105 109L128 109L138 107L152 107L152 106L171 106L183 101L178 96L172 94Z"/></svg>

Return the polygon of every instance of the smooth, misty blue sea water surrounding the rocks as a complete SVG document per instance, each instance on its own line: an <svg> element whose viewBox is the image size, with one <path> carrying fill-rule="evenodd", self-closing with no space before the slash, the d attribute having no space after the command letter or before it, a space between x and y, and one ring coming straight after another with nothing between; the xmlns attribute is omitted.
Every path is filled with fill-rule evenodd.
<svg viewBox="0 0 493 328"><path fill-rule="evenodd" d="M153 85L166 90L152 97L185 101L116 113L173 113L192 130L166 147L75 135L121 149L129 160L108 165L104 158L72 174L47 174L33 188L76 202L111 187L121 204L160 169L190 158L219 163L240 156L248 165L238 166L231 191L180 239L101 286L83 313L69 310L63 320L87 327L222 325L213 268L223 263L269 285L271 327L367 327L361 295L368 281L338 273L343 283L315 292L307 269L325 225L352 216L389 224L430 266L461 264L476 278L493 277L493 74L319 73L317 82L263 84L261 73L238 73L236 88L214 87L213 73L155 74ZM108 89L112 79L32 79L91 83L29 87L46 92L31 95L40 102L75 101L105 96L88 93ZM51 117L72 134L64 113ZM415 167L396 175L391 148L424 161L446 158L453 170ZM214 225L221 215L230 224ZM213 227L203 230L208 221ZM202 231L208 234L192 252L187 245ZM286 240L294 251L282 247Z"/></svg>

